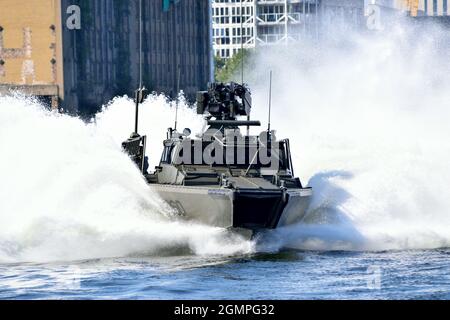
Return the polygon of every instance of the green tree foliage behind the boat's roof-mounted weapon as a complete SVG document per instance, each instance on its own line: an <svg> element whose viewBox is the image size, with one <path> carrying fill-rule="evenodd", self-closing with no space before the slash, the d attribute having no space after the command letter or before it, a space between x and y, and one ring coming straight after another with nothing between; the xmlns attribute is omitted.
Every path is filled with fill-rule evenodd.
<svg viewBox="0 0 450 320"><path fill-rule="evenodd" d="M239 51L232 58L222 59L215 57L215 78L218 82L241 82L242 63L244 73L248 75L251 65L254 63L254 53L251 50Z"/></svg>

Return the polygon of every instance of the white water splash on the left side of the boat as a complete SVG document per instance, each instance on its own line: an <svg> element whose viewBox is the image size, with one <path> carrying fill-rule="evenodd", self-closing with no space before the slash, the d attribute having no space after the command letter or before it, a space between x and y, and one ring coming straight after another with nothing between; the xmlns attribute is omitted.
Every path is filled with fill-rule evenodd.
<svg viewBox="0 0 450 320"><path fill-rule="evenodd" d="M193 124L181 104L180 122ZM24 97L0 97L0 262L252 250L225 230L171 217L120 149L133 110L118 98L85 124ZM142 106L150 150L159 153L172 111L161 96Z"/></svg>

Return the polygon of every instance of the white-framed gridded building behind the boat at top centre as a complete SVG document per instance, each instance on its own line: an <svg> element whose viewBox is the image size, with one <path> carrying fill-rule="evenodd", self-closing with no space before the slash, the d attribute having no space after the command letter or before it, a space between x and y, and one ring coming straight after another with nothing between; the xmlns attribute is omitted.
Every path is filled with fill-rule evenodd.
<svg viewBox="0 0 450 320"><path fill-rule="evenodd" d="M214 54L230 58L242 48L300 41L317 31L319 2L212 0Z"/></svg>

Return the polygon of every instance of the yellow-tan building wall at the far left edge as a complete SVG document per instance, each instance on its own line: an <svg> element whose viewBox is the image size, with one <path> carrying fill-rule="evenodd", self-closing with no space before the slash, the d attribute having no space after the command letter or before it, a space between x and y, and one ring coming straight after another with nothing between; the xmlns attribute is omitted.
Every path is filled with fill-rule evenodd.
<svg viewBox="0 0 450 320"><path fill-rule="evenodd" d="M0 93L18 89L53 107L64 97L60 11L57 0L2 0Z"/></svg>

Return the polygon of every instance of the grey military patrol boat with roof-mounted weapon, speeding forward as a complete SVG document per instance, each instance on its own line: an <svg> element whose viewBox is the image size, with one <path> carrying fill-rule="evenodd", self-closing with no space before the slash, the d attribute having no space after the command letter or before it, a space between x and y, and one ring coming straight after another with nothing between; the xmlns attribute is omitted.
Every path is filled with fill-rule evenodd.
<svg viewBox="0 0 450 320"><path fill-rule="evenodd" d="M250 127L261 123L250 120L246 85L212 83L199 92L197 113L207 129L192 138L189 129L169 128L160 164L150 173L146 137L137 133L143 99L144 89L138 89L136 130L122 146L178 216L249 237L301 221L312 189L294 175L288 139L277 140L270 125L259 135L249 134Z"/></svg>

